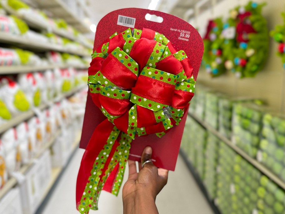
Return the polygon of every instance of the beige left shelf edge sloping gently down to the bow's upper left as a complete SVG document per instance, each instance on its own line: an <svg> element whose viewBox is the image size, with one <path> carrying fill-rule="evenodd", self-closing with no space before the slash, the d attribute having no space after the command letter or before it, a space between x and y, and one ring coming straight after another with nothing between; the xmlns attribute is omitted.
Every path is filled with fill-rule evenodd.
<svg viewBox="0 0 285 214"><path fill-rule="evenodd" d="M86 56L89 57L91 55L87 52L83 51L76 51L76 50L70 50L68 48L64 48L61 45L58 44L52 44L52 43L41 43L36 42L34 40L31 40L24 36L18 36L18 35L12 35L9 33L2 33L0 32L0 42L8 43L8 44L16 44L17 47L23 47L23 48L29 48L37 51L59 51L59 52L66 52L75 54L78 56Z"/></svg>

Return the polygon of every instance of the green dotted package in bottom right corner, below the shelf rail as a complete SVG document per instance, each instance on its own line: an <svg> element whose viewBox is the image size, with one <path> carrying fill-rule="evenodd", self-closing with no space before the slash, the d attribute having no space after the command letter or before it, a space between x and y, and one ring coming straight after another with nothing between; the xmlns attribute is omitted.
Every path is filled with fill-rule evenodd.
<svg viewBox="0 0 285 214"><path fill-rule="evenodd" d="M267 176L260 177L256 193L258 213L283 214L285 212L285 192Z"/></svg>

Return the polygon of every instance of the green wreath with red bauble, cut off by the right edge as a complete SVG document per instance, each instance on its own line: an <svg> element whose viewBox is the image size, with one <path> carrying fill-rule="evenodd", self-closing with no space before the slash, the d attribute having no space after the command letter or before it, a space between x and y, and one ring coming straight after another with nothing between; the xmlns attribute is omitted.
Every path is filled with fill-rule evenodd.
<svg viewBox="0 0 285 214"><path fill-rule="evenodd" d="M277 55L282 58L283 68L285 69L285 12L281 13L284 23L277 25L270 35L279 43Z"/></svg>

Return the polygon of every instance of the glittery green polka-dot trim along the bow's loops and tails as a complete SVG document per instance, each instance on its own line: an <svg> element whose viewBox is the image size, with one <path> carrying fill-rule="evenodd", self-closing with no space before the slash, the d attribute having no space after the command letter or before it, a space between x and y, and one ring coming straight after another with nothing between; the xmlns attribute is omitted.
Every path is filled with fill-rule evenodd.
<svg viewBox="0 0 285 214"><path fill-rule="evenodd" d="M110 38L118 35L118 33L114 33ZM125 66L131 72L138 76L138 64L129 56L132 50L134 43L141 37L142 30L134 29L133 33L130 28L126 29L121 33L125 40L123 50L120 48L115 48L110 54L110 57L115 57L121 63L120 66ZM172 55L170 49L167 45L171 45L169 40L164 37L164 35L160 33L155 33L154 40L157 42L152 53L148 56L147 65L143 68L140 75L146 76L148 78L155 79L157 81L167 83L173 85L173 89L175 90L187 90L187 92L194 92L195 89L195 81L193 77L187 79L184 70L179 71L178 74L169 74L164 71L160 71L155 69L157 63L166 57ZM114 41L114 40L113 40ZM112 41L110 41L111 43ZM101 57L106 58L108 56L108 47L109 43L104 43L102 45L101 53L94 52L92 54L92 58ZM116 46L115 46L116 47ZM173 54L173 57L178 59L179 61L185 59L183 51L178 51ZM98 209L98 198L101 190L105 184L105 181L108 179L108 176L112 172L112 170L118 166L118 171L116 177L114 179L112 193L114 195L118 195L119 189L122 186L123 174L126 167L126 162L128 160L128 155L130 151L130 146L132 140L135 136L147 135L150 133L146 132L146 127L137 127L138 126L138 117L137 117L137 106L142 106L151 110L152 116L155 117L156 123L163 124L164 130L169 130L173 127L173 125L178 125L181 121L181 118L184 114L184 109L175 109L172 106L168 106L165 104L158 103L156 101L149 100L145 97L138 96L137 94L133 94L132 91L126 91L119 88L115 83L111 82L107 77L105 77L101 71L98 71L95 75L89 75L88 84L90 93L100 94L110 99L125 101L124 99L129 99L134 105L127 112L128 114L128 130L127 133L123 133L118 130L115 126L112 132L109 135L109 138L99 155L96 158L96 161L93 164L93 169L90 172L90 176L88 178L88 182L85 187L85 191L82 195L80 205L78 210L83 213L88 213L89 209L96 210ZM106 105L104 107L104 105ZM167 108L167 109L165 109ZM109 106L107 107L107 103L102 103L101 111L105 115L105 117L111 123L114 122L119 116L114 116L109 114L106 110L108 109L110 112L112 111ZM167 110L164 111L163 110ZM114 114L114 113L113 113ZM172 118L170 120L170 118ZM176 122L175 124L172 121ZM114 123L113 123L114 124ZM158 137L162 137L165 135L165 132L156 133ZM116 140L118 139L118 140ZM112 157L109 155L112 154ZM114 152L114 153L113 153ZM108 160L108 166L106 165L106 161ZM107 170L106 170L107 169Z"/></svg>

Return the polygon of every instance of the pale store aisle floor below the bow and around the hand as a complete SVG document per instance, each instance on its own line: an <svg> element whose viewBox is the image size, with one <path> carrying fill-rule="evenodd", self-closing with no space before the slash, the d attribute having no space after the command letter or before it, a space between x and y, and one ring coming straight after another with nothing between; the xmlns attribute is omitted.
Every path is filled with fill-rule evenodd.
<svg viewBox="0 0 285 214"><path fill-rule="evenodd" d="M43 214L78 214L75 208L75 186L81 157L84 150L77 149L63 176L47 201ZM128 168L126 168L128 175ZM127 176L124 180L126 181ZM124 181L124 182L125 182ZM212 214L211 207L196 185L194 178L179 156L175 172L169 172L168 184L159 193L156 204L160 214ZM99 210L90 214L122 214L122 191L118 197L102 191Z"/></svg>

